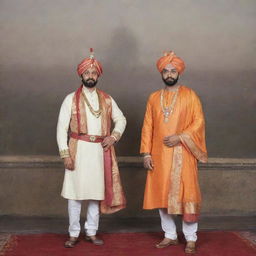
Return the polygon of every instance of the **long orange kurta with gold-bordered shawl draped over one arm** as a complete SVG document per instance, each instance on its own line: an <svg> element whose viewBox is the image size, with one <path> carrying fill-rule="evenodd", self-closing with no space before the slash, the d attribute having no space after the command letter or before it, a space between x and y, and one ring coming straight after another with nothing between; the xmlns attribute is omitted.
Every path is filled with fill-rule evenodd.
<svg viewBox="0 0 256 256"><path fill-rule="evenodd" d="M165 123L160 94L161 90L150 95L142 128L140 152L150 153L154 164L147 174L143 208L167 208L170 214L195 221L201 205L197 161L207 161L202 106L192 89L180 86L174 111ZM171 98L174 92L168 94ZM164 137L174 134L180 135L182 143L165 146Z"/></svg>

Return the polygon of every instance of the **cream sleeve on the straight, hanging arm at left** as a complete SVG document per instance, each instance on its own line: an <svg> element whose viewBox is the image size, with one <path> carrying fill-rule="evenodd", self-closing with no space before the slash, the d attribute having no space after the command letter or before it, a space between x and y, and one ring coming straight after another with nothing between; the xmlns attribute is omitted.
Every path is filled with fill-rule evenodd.
<svg viewBox="0 0 256 256"><path fill-rule="evenodd" d="M69 94L63 101L57 124L57 143L61 158L69 156L68 129L71 118L73 94Z"/></svg>

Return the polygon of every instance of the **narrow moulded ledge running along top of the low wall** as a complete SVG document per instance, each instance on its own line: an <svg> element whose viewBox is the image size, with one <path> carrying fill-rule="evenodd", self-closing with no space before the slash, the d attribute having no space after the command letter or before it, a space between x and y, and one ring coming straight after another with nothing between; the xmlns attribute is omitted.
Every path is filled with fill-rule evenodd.
<svg viewBox="0 0 256 256"><path fill-rule="evenodd" d="M119 167L142 168L139 156L118 157ZM26 155L0 156L0 168L61 168L62 160L58 156ZM199 163L200 170L255 170L256 158L209 158L208 163Z"/></svg>

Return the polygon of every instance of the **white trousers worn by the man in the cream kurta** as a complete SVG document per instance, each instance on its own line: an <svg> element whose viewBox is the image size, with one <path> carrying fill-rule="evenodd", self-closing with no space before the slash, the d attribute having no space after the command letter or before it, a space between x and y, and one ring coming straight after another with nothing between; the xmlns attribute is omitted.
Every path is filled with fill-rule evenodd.
<svg viewBox="0 0 256 256"><path fill-rule="evenodd" d="M94 236L99 227L99 201L87 200L87 218L84 224L84 229L87 236ZM78 237L80 227L80 213L81 213L82 200L68 200L68 214L69 214L69 235Z"/></svg>

